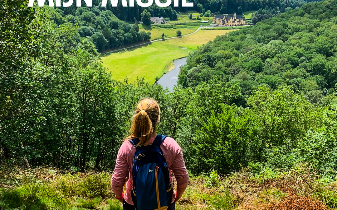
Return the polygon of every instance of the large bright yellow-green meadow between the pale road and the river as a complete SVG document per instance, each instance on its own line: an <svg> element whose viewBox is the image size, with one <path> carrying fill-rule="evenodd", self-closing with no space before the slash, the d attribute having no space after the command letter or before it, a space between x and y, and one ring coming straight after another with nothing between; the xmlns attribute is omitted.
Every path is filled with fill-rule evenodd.
<svg viewBox="0 0 337 210"><path fill-rule="evenodd" d="M156 77L162 76L165 69L167 71L172 60L186 57L198 46L231 31L234 30L200 30L190 36L157 41L121 53L108 53L101 57L102 65L112 72L115 80L123 81L127 77L133 82L137 77L144 77L145 81L154 83Z"/></svg>

